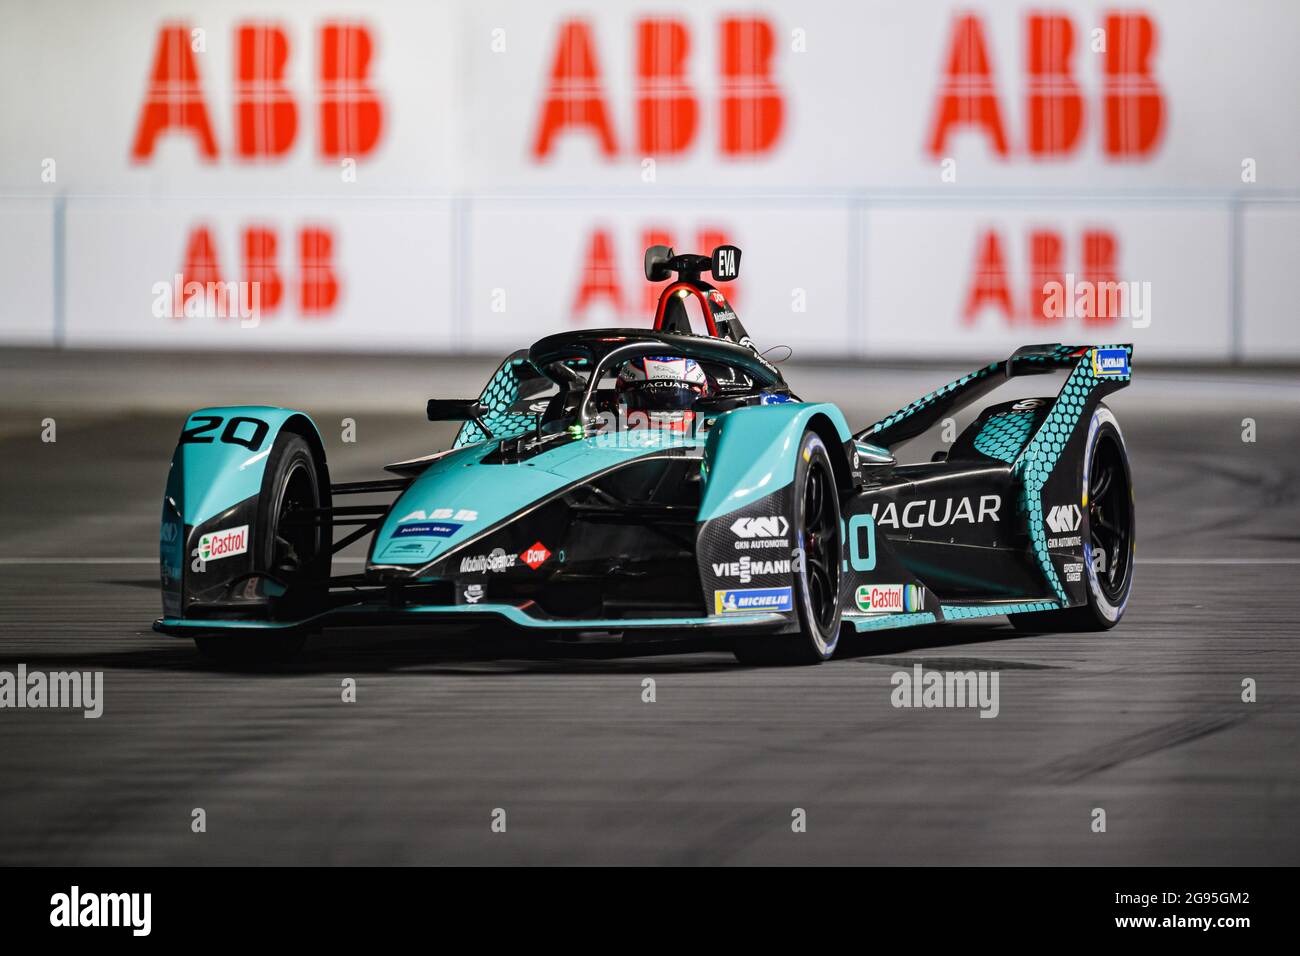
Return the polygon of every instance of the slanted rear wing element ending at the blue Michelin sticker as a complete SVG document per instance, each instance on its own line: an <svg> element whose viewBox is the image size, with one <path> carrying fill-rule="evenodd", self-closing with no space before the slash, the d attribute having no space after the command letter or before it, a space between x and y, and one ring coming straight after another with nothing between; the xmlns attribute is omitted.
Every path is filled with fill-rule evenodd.
<svg viewBox="0 0 1300 956"><path fill-rule="evenodd" d="M1027 345L1010 358L993 362L918 398L858 432L854 438L893 447L927 432L959 408L983 398L1009 378L1079 371L1096 380L1110 380L1115 388L1128 384L1132 345Z"/></svg>

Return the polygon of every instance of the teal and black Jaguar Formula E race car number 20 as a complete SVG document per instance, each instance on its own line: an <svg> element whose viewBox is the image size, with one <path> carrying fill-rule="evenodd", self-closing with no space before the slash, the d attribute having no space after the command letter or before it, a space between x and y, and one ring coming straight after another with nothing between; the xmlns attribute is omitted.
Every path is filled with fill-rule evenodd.
<svg viewBox="0 0 1300 956"><path fill-rule="evenodd" d="M1101 399L1131 345L1036 345L857 431L800 398L727 298L740 250L646 252L653 329L510 355L450 449L332 483L300 411L203 408L172 459L155 628L226 662L325 626L495 623L538 635L725 633L746 662L818 662L858 632L1006 615L1105 630L1134 574L1132 481ZM692 320L697 330L692 330ZM1054 398L984 408L946 453L896 449L1010 378ZM380 503L339 505L385 496ZM344 533L346 532L346 533ZM360 570L330 558L368 538Z"/></svg>

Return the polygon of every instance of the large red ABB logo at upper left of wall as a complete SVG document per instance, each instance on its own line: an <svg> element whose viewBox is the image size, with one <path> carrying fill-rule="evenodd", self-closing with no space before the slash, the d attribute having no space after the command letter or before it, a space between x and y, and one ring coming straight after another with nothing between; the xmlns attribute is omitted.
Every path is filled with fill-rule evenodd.
<svg viewBox="0 0 1300 956"><path fill-rule="evenodd" d="M186 135L199 157L217 159L217 139L199 72L196 47L207 36L188 23L159 29L148 87L140 107L131 160L147 163L164 135ZM285 83L289 35L273 23L238 23L235 122L231 152L243 160L283 157L298 139L298 101ZM316 124L322 160L360 159L374 152L384 130L384 107L369 85L374 38L361 23L326 21L317 42Z"/></svg>

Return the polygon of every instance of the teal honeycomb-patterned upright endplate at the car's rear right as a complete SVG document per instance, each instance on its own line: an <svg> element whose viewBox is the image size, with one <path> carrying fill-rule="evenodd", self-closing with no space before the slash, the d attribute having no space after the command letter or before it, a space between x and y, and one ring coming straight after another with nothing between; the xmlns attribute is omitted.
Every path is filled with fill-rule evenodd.
<svg viewBox="0 0 1300 956"><path fill-rule="evenodd" d="M1119 349L1123 346L1097 346L1098 349ZM1070 602L1065 593L1065 587L1052 566L1052 557L1048 554L1046 531L1043 524L1043 486L1048 476L1056 467L1061 453L1065 450L1070 436L1074 434L1079 416L1088 402L1088 395L1104 381L1128 381L1131 375L1110 375L1098 378L1092 371L1092 355L1096 349L1089 349L1065 380L1065 388L1057 395L1056 403L1048 411L1046 419L1039 431L1024 446L1019 458L1015 459L1015 475L1020 483L1020 510L1026 515L1030 528L1030 545L1034 557L1043 568L1043 575L1056 593L1061 605ZM1128 349L1130 358L1132 349Z"/></svg>

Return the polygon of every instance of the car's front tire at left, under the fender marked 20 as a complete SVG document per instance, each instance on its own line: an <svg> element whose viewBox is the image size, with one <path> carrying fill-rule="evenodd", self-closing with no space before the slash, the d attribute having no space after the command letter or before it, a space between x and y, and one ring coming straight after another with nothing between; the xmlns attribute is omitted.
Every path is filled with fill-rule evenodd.
<svg viewBox="0 0 1300 956"><path fill-rule="evenodd" d="M308 512L329 507L329 501L328 472L307 440L294 432L276 436L252 528L254 571L282 588L268 597L272 619L298 620L325 606L333 529L329 522L309 520ZM285 663L304 643L302 632L195 639L200 654L233 666Z"/></svg>

